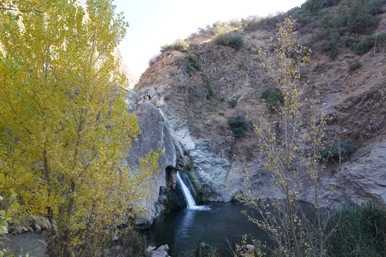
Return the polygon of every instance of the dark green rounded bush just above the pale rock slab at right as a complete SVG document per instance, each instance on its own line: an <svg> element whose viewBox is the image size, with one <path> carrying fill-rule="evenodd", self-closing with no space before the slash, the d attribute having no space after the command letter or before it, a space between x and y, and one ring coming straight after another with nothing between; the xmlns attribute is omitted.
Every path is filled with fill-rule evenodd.
<svg viewBox="0 0 386 257"><path fill-rule="evenodd" d="M351 143L351 140L334 141L327 145L320 151L320 155L323 159L339 159L339 156L343 159L350 157L356 150L355 145Z"/></svg>

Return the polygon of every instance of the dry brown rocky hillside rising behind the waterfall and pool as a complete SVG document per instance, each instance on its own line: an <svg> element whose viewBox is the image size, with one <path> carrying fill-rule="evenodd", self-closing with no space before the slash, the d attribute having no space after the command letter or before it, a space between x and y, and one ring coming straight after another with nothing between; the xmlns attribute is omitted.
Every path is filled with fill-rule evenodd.
<svg viewBox="0 0 386 257"><path fill-rule="evenodd" d="M359 1L360 10L368 12L366 19L372 23L365 20L366 29L354 33L350 32L350 14L354 10L349 1L339 2L307 1L288 12L298 19L298 36L303 44L312 49L312 63L301 74L304 103L307 105L308 97L319 91L325 103L320 108L329 116L325 144L339 136L343 141L349 140L350 151L355 151L344 159L340 172L330 161L321 183L326 188L338 186L335 200L360 201L370 197L386 201L386 175L382 171L386 164L386 6L384 1L373 1L376 4L372 6L376 7L370 10L368 2ZM310 9L317 4L319 8ZM232 132L229 120L247 112L256 119L256 108L270 109L266 101L275 93L260 67L257 49L270 49L276 23L285 15L217 22L184 41L163 46L162 53L150 61L134 88L134 98L141 95L136 100L138 105L146 101L144 98L157 96L156 106L193 161L205 201L232 199L229 188L238 186L234 156L246 157L257 184L267 181L262 157L254 154L257 145L251 125ZM346 19L345 23L340 24L339 17ZM333 22L326 24L328 19ZM242 47L237 45L239 39ZM156 90L152 96L151 88ZM268 94L265 100L264 94ZM304 199L309 200L306 194Z"/></svg>

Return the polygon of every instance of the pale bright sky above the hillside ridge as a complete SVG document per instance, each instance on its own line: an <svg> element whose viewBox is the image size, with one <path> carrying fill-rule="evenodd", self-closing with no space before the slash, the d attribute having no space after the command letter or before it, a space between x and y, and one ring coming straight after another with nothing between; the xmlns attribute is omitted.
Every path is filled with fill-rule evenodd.
<svg viewBox="0 0 386 257"><path fill-rule="evenodd" d="M119 49L129 71L137 78L147 69L160 46L185 39L199 27L249 15L266 16L287 11L305 0L115 0L129 28Z"/></svg>

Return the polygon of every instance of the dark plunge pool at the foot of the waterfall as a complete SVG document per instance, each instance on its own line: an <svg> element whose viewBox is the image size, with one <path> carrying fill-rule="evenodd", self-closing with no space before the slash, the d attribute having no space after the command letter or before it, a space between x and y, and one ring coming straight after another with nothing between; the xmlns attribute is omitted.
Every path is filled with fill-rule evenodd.
<svg viewBox="0 0 386 257"><path fill-rule="evenodd" d="M221 257L232 256L227 240L240 241L244 234L267 241L269 238L256 224L240 213L245 206L239 202L207 203L196 209L183 209L163 214L144 230L147 243L159 247L168 244L171 257L192 257L200 239L210 239Z"/></svg>

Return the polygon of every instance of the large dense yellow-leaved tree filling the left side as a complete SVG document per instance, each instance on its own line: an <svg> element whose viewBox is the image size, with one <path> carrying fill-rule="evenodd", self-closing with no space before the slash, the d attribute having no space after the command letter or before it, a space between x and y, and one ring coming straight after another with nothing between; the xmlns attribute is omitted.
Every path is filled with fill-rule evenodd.
<svg viewBox="0 0 386 257"><path fill-rule="evenodd" d="M138 170L125 163L140 131L112 55L124 16L110 0L86 5L51 0L44 13L6 11L0 37L0 194L14 188L21 216L47 217L50 256L97 254L116 224L144 214L137 203L159 171L158 152Z"/></svg>

